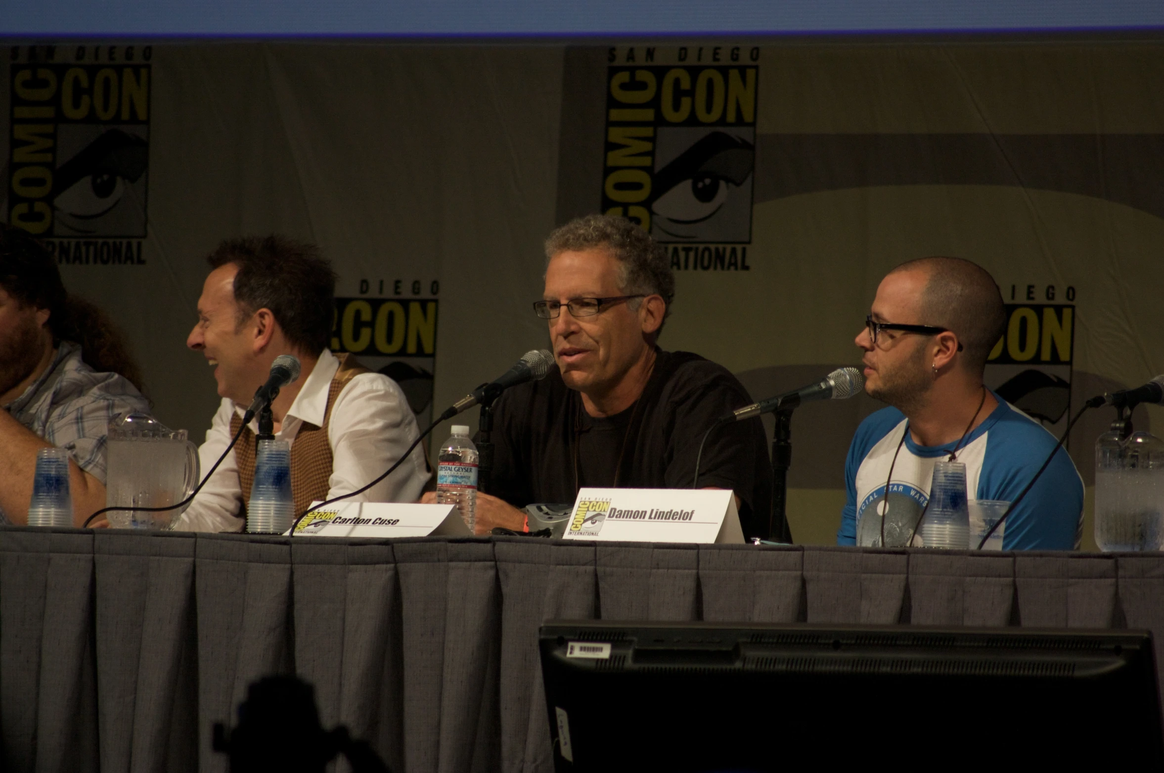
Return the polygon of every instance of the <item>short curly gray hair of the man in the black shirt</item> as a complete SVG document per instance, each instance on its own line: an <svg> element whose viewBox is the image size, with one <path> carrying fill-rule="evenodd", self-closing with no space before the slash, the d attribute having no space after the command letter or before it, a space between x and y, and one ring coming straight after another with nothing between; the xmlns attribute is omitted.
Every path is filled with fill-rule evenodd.
<svg viewBox="0 0 1164 773"><path fill-rule="evenodd" d="M675 274L667 251L626 217L585 215L555 228L546 238L546 264L561 252L606 249L619 263L618 288L624 295L659 295L667 305L663 322L675 300ZM641 299L630 302L637 309ZM655 335L662 332L662 325Z"/></svg>

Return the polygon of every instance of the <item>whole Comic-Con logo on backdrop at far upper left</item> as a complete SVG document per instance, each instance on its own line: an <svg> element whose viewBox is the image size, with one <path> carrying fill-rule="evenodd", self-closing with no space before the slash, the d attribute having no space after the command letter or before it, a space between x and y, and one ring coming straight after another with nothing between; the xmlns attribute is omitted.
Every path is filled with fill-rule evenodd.
<svg viewBox="0 0 1164 773"><path fill-rule="evenodd" d="M13 49L8 222L62 263L142 262L141 243L123 239L146 236L151 55Z"/></svg>

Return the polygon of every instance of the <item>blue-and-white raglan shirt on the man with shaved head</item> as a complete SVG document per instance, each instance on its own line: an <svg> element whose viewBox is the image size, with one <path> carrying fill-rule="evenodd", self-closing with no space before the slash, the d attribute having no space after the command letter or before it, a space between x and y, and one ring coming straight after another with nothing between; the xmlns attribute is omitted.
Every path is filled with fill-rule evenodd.
<svg viewBox="0 0 1164 773"><path fill-rule="evenodd" d="M999 395L994 396L998 408L971 432L958 451L958 461L966 465L968 499L1013 502L1046 460L1057 438L1030 416ZM838 545L879 544L881 524L876 514L885 510L882 502L889 465L904 432L906 416L896 408L883 408L857 428L845 461L849 499L840 516ZM929 501L934 464L947 459L957 444L924 446L906 437L889 481L886 544L901 545L908 539L903 530L907 524L913 528ZM1078 549L1083 536L1083 479L1067 452L1059 449L1043 475L1003 522L1002 549ZM866 513L874 517L868 518L865 529L859 529Z"/></svg>

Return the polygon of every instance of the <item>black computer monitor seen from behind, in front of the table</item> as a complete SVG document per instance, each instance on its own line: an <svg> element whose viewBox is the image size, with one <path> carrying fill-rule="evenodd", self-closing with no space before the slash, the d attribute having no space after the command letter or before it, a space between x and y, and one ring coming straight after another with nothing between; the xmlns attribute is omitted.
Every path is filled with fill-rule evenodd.
<svg viewBox="0 0 1164 773"><path fill-rule="evenodd" d="M588 621L540 647L560 773L1164 766L1148 631Z"/></svg>

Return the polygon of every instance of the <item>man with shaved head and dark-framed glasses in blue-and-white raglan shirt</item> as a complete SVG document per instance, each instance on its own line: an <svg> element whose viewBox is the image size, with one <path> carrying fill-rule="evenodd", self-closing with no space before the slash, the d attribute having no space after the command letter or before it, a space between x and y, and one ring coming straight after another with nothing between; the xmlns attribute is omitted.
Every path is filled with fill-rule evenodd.
<svg viewBox="0 0 1164 773"><path fill-rule="evenodd" d="M982 382L1005 323L998 285L970 260L910 260L881 280L856 343L865 391L890 407L853 436L838 544L916 544L936 461L966 465L971 500L1013 502L1038 472L1057 438ZM1059 449L1003 522L1003 550L1078 549L1083 503Z"/></svg>

